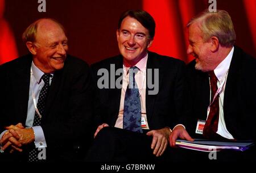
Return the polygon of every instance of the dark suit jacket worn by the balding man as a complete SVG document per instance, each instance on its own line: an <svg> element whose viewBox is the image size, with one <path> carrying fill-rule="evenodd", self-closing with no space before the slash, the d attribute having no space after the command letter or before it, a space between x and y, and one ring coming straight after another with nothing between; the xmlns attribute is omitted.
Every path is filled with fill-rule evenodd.
<svg viewBox="0 0 256 173"><path fill-rule="evenodd" d="M27 118L31 54L0 66L0 132ZM92 85L88 65L67 56L63 69L54 73L41 126L47 142L47 159L60 159L81 139L92 136ZM32 144L34 145L34 143ZM26 154L26 150L23 152ZM13 157L13 156L11 156ZM67 156L70 157L70 156Z"/></svg>

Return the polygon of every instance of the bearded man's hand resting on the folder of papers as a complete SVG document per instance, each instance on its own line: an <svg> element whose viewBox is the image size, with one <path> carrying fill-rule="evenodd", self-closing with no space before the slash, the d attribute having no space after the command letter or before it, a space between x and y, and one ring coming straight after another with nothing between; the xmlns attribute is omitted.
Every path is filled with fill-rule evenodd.
<svg viewBox="0 0 256 173"><path fill-rule="evenodd" d="M178 125L172 130L172 133L169 137L169 143L171 147L175 147L177 138L180 138L181 140L187 140L187 141L194 141L193 138L191 138L187 132L187 130L184 129L182 125Z"/></svg>

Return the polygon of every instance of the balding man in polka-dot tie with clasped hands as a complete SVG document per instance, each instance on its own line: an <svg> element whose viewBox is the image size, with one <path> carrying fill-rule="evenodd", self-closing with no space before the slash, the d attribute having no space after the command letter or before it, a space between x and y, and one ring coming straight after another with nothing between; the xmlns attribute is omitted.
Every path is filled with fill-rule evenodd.
<svg viewBox="0 0 256 173"><path fill-rule="evenodd" d="M30 54L0 66L0 157L75 158L73 147L89 139L92 124L89 67L67 54L68 39L56 20L32 23L23 40Z"/></svg>

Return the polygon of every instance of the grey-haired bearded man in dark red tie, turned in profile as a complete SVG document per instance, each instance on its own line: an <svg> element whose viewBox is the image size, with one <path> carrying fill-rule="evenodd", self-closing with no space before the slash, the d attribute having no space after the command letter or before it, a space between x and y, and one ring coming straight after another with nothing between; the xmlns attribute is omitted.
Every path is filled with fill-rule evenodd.
<svg viewBox="0 0 256 173"><path fill-rule="evenodd" d="M190 139L187 132L209 140L255 142L256 60L234 46L236 33L228 12L206 10L187 27L187 53L195 56L188 64L193 112L187 130L180 125L173 130L171 146L177 137ZM254 151L247 152L256 158ZM245 158L236 152L230 156L228 159Z"/></svg>

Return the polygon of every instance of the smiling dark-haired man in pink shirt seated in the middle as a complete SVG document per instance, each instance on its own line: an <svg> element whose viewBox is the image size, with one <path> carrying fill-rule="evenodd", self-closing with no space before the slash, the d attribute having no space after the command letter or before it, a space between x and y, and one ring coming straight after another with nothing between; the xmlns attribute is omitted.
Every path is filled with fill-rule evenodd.
<svg viewBox="0 0 256 173"><path fill-rule="evenodd" d="M117 29L121 54L92 65L100 122L87 161L154 161L166 153L170 128L186 111L185 66L149 52L154 35L150 14L125 11ZM101 86L104 71L110 87Z"/></svg>

